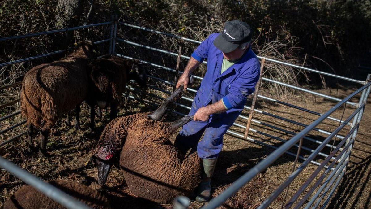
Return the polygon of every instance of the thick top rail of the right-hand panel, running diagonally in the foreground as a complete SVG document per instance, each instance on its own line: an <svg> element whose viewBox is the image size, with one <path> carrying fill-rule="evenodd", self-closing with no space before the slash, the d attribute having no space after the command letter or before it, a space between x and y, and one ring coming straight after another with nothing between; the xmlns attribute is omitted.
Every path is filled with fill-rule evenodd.
<svg viewBox="0 0 371 209"><path fill-rule="evenodd" d="M293 136L291 139L289 139L285 144L278 147L275 151L273 151L271 154L269 154L264 160L260 161L258 164L256 164L253 168L251 168L249 171L247 171L243 176L241 176L239 179L234 181L234 183L229 186L226 190L224 190L223 193L219 194L216 198L212 199L208 205L205 206L206 209L209 208L216 208L223 204L224 201L226 201L229 197L231 197L234 193L236 193L241 187L243 187L247 182L249 182L253 177L255 177L257 174L262 172L265 168L267 168L270 164L272 164L274 161L276 161L285 151L290 149L294 144L296 144L303 136L308 134L309 131L311 131L313 128L315 128L319 123L321 123L327 116L335 112L340 106L342 106L345 102L347 102L349 99L354 97L356 94L361 92L362 90L366 89L368 86L370 86L371 83L368 83L358 90L354 91L352 94L349 94L347 97L345 97L341 102L337 103L334 107L332 107L330 110L328 110L323 116L316 119L313 123L311 123L309 126L304 128L301 132Z"/></svg>

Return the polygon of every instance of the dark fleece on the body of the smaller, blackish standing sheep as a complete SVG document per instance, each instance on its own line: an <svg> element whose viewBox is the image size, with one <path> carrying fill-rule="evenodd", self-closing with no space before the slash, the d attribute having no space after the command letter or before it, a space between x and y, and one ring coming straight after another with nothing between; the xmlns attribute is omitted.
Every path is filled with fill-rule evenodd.
<svg viewBox="0 0 371 209"><path fill-rule="evenodd" d="M98 100L119 105L132 64L132 61L115 56L92 60L89 64L92 91L89 91L87 102Z"/></svg>

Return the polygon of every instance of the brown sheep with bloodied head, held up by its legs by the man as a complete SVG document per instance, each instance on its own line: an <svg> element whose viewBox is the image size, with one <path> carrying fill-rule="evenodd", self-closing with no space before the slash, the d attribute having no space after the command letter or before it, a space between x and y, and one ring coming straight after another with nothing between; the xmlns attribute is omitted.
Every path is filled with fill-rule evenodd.
<svg viewBox="0 0 371 209"><path fill-rule="evenodd" d="M193 116L172 123L157 121L182 89L179 87L150 117L148 113L137 113L106 126L94 155L99 184L105 184L114 157L121 151L119 164L136 196L165 204L193 192L200 183L200 158L195 150L184 156L169 140Z"/></svg>

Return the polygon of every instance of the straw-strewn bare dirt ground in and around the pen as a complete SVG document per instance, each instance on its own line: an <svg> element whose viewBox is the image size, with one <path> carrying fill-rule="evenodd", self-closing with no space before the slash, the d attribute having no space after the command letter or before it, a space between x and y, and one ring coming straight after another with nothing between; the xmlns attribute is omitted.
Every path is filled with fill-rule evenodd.
<svg viewBox="0 0 371 209"><path fill-rule="evenodd" d="M329 90L321 91L324 93L331 93L331 95L339 98L344 98L347 94L351 93L351 90L341 89L332 89L331 92L329 92ZM158 95L162 97L166 96L166 94ZM263 95L267 94L264 92ZM159 101L148 96L145 98L151 102ZM321 113L326 112L326 110L335 105L335 102L331 102L320 97L308 97L306 94L299 94L298 96L290 98L280 98L280 100L290 102L307 109L316 110L317 112ZM155 107L150 106L145 102L137 102L134 100L128 100L125 106L127 110L121 108L119 116L129 115L136 112L151 111L155 109ZM268 113L274 113L276 115L304 123L306 125L318 118L316 115L303 113L300 110L279 105L277 103L265 102L262 99L258 99L256 108ZM179 112L187 113L187 110L182 109L181 107L174 106L174 109ZM46 159L40 161L37 157L37 153L27 153L25 136L22 136L19 138L19 140L1 147L1 156L16 163L23 169L26 169L36 176L39 176L41 179L68 179L70 181L85 183L94 189L98 189L99 186L96 183L96 168L92 165L85 167L84 163L91 157L93 148L99 139L99 135L109 120L108 113L104 112L103 118L97 120L96 132L91 133L87 128L88 110L88 107L82 108L82 125L81 129L79 130L66 127L63 120L59 120L58 124L52 129L50 134L50 140L47 144L50 155ZM351 110L354 110L354 108L347 106L344 119L351 113ZM371 173L371 142L369 140L371 134L368 131L368 128L371 124L370 110L371 104L369 100L369 103L365 109L359 133L357 135L357 140L354 144L354 149L347 167L347 172L344 179L340 183L339 189L336 190L334 198L330 201L329 208L370 208L369 202L371 183L369 182L369 178ZM244 115L248 115L246 110L244 111ZM342 108L336 111L332 116L340 118L341 115ZM174 120L175 117L179 118L179 116L169 114L165 120ZM296 133L303 129L302 126L293 125L292 123L285 122L283 120L272 119L267 115L262 115L256 112L254 113L253 118ZM16 119L17 121L23 120L20 115L18 115ZM246 125L246 120L244 119L239 118L236 122ZM7 128L13 124L14 122L2 122L1 127ZM320 127L326 131L332 131L337 125L338 122L325 120ZM267 128L266 126L256 123L252 123L251 128L285 140L292 137L292 135L286 134L282 131ZM349 128L347 129L349 130ZM14 134L21 132L21 130L24 130L24 127L17 128L14 131ZM232 126L231 130L242 135L244 133L242 128L238 128L236 126ZM346 132L343 131L341 134L345 135ZM312 138L318 140L323 140L326 136L315 131L310 132L310 135ZM12 133L4 134L1 136L0 142L9 139L11 136ZM257 141L265 142L266 144L276 147L282 144L282 142L276 139L271 139L267 136L254 132L249 132L249 136ZM36 137L38 137L38 133ZM335 141L335 145L336 142L337 141ZM36 143L39 143L38 139L35 139L35 144ZM315 148L318 144L303 141L303 145L309 148ZM271 148L238 138L234 135L226 134L224 137L223 151L220 154L212 181L213 196L215 197L223 192L226 187L228 187L241 175L249 171L249 169L256 165L259 161L263 160L267 155L270 154L270 152L272 152L272 150L273 149ZM290 151L296 153L297 149L292 148ZM329 148L325 148L323 150L325 153L329 153L329 151ZM301 154L304 156L308 156L309 153L310 152L305 150L301 151ZM288 177L292 171L294 160L295 157L292 157L288 154L280 157L279 160L267 168L265 172L256 176L254 179L252 179L252 181L244 186L243 189L230 198L223 205L223 208L256 208L279 186L280 183L286 179L286 177ZM324 157L318 157L315 160L321 162L324 160ZM302 161L299 160L299 163L301 162ZM297 164L296 167L298 165L299 164ZM296 192L296 190L305 182L305 180L316 168L316 165L309 164L309 166L305 168L305 170L295 179L295 181L293 181L293 183L290 185L286 201L289 200L289 198ZM5 170L0 170L0 208L3 206L4 202L23 185L24 183L21 180L12 176ZM125 206L130 206L131 208L172 207L171 204L156 205L150 201L143 200L132 195L125 184L121 171L115 167L112 168L111 173L109 174L107 185L108 189L103 192L109 196L109 199L111 199L113 208L122 208ZM308 189L306 189L306 191L308 191ZM284 193L280 194L275 202L272 203L270 208L280 208L283 198ZM199 208L200 206L202 206L202 204L196 202L192 202L191 204L192 208Z"/></svg>

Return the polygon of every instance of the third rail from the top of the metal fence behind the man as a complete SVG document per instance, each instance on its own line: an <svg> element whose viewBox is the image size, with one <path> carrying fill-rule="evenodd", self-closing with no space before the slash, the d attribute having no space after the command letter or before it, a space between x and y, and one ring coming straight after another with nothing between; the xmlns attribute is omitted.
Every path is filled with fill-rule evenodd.
<svg viewBox="0 0 371 209"><path fill-rule="evenodd" d="M118 57L122 57L122 58L125 58L125 59L128 59L128 60L134 60L134 58L132 58L132 57L124 56L124 55L121 55L121 54L116 54L116 56L118 56ZM138 59L136 59L136 60L138 60ZM162 68L162 69L164 69L164 70L167 70L167 71L171 71L171 72L176 73L176 70L174 70L174 69L172 69L172 68L168 68L168 67L165 67L165 66L162 66L162 65L158 65L158 64L155 64L155 63L153 63L153 62L144 61L144 60L138 60L138 61L141 62L141 63L144 63L144 64L152 65L152 66L154 66L154 67ZM183 71L179 71L179 73L180 73L180 74L183 74ZM197 75L191 75L191 76L192 76L193 78L198 79L198 80L203 80L203 77L200 77L200 76L197 76ZM313 111L313 110L308 110L308 109L305 109L305 108L303 108L303 107L298 107L298 106L295 106L295 105L291 105L291 104L289 104L289 103L285 103L285 102L282 102L282 101L279 101L279 100L275 100L275 99L272 99L272 98L270 98L270 97L262 96L262 95L259 95L259 94L258 94L257 96L260 97L260 98L266 99L266 100L270 100L270 101L272 101L272 102L277 102L277 103L280 103L280 104L282 104L282 105L290 106L290 107L293 107L293 108L295 108L295 109L303 110L303 111L305 111L305 112L312 113L312 114L315 114L315 115L318 115L318 116L322 116L322 115L323 115L323 114L321 114L321 113L317 113L317 112L315 112L315 111ZM335 121L337 121L337 122L340 122L339 119L332 118L332 117L330 117L330 116L328 116L327 118L328 118L328 119L335 120ZM342 122L343 122L343 121L342 121ZM349 124L351 124L351 123L349 123Z"/></svg>

